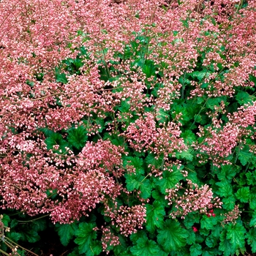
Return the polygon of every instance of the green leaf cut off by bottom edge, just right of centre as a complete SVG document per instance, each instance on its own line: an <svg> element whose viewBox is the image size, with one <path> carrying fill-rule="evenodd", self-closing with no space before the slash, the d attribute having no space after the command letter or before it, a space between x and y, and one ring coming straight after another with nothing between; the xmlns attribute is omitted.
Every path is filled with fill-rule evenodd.
<svg viewBox="0 0 256 256"><path fill-rule="evenodd" d="M155 241L148 238L138 238L137 244L130 249L135 256L155 256L159 255L160 249Z"/></svg>

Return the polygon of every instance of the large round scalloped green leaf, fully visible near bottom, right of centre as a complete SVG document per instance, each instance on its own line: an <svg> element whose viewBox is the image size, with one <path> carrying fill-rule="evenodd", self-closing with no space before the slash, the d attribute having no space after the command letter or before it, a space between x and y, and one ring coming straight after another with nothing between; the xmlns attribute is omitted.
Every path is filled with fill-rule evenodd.
<svg viewBox="0 0 256 256"><path fill-rule="evenodd" d="M173 219L167 219L162 229L158 229L157 242L165 249L166 252L172 250L178 251L186 245L188 232L181 228L180 224Z"/></svg>

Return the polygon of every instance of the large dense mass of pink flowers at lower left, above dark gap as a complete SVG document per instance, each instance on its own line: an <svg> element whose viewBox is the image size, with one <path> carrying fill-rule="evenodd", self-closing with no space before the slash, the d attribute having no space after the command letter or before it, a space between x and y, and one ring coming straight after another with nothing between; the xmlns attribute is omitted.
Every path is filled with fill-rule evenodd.
<svg viewBox="0 0 256 256"><path fill-rule="evenodd" d="M115 201L120 194L122 188L116 178L124 172L124 150L108 140L86 143L76 157L53 153L43 157L42 150L27 157L25 152L12 159L4 158L2 208L15 208L30 215L50 213L53 222L69 223L87 215L105 197Z"/></svg>

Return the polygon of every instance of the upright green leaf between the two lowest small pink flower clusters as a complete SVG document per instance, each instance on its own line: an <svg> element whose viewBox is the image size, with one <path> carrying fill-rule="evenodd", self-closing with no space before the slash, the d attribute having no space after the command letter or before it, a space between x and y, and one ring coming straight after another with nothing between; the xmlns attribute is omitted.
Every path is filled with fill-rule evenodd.
<svg viewBox="0 0 256 256"><path fill-rule="evenodd" d="M163 227L165 217L165 207L157 200L154 203L146 204L146 229L150 233L154 233L156 227Z"/></svg>

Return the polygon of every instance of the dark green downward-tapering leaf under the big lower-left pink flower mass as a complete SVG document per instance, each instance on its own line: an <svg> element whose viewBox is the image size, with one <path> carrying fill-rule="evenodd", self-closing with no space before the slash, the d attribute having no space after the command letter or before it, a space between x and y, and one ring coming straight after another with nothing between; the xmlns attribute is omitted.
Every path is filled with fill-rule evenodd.
<svg viewBox="0 0 256 256"><path fill-rule="evenodd" d="M78 229L78 225L75 222L71 224L56 223L55 227L59 234L61 244L64 246L69 244L69 241L73 238L75 231Z"/></svg>

